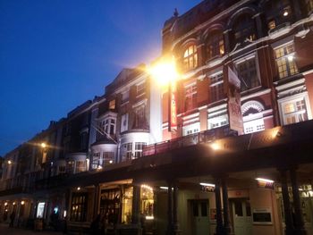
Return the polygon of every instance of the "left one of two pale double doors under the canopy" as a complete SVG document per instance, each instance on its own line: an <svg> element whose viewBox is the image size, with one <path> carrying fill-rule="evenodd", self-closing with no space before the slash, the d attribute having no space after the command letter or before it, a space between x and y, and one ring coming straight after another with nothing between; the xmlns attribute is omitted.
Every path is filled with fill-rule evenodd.
<svg viewBox="0 0 313 235"><path fill-rule="evenodd" d="M208 200L190 200L192 234L210 234Z"/></svg>

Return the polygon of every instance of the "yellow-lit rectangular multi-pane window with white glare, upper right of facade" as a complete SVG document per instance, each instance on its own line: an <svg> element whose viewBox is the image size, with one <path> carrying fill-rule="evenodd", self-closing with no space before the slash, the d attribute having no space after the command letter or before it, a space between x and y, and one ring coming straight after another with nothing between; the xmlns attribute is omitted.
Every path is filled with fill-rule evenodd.
<svg viewBox="0 0 313 235"><path fill-rule="evenodd" d="M276 65L280 79L298 73L294 55L293 44L275 49Z"/></svg>

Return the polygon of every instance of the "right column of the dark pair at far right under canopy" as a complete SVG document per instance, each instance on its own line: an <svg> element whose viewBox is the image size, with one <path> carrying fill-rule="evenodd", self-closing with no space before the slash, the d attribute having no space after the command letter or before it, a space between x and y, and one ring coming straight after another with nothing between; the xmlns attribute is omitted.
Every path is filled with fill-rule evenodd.
<svg viewBox="0 0 313 235"><path fill-rule="evenodd" d="M293 197L293 206L294 206L294 214L295 214L295 234L297 235L305 235L307 234L304 229L304 222L302 217L301 210L301 202L300 202L300 194L299 194L299 185L297 181L297 172L294 168L290 170L291 180L292 180L292 197Z"/></svg>

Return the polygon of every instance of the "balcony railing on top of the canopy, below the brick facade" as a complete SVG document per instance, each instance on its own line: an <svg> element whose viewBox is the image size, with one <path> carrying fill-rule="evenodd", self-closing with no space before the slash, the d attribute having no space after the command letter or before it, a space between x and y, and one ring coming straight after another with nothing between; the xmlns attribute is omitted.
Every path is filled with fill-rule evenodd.
<svg viewBox="0 0 313 235"><path fill-rule="evenodd" d="M204 130L196 134L181 138L173 138L157 144L148 145L143 147L142 155L157 155L167 151L177 149L180 147L194 146L199 143L206 143L214 141L217 138L224 138L229 136L237 136L238 133L235 130L230 130L229 126L223 126L212 130Z"/></svg>

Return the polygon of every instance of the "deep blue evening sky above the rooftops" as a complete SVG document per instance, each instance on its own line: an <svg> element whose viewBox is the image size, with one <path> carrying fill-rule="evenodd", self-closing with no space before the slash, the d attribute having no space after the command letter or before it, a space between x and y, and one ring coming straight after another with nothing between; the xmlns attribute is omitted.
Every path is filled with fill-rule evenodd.
<svg viewBox="0 0 313 235"><path fill-rule="evenodd" d="M0 155L160 55L173 9L199 2L0 0Z"/></svg>

